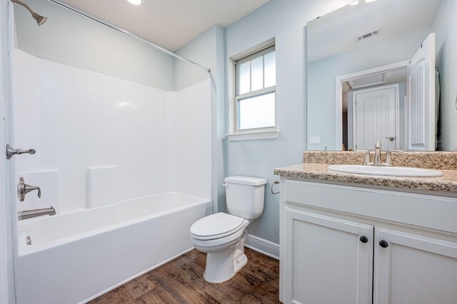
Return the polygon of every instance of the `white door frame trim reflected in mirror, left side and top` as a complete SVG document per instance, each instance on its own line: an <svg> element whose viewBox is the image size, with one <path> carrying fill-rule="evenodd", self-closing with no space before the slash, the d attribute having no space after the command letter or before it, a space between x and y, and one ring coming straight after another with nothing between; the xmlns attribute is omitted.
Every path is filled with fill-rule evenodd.
<svg viewBox="0 0 457 304"><path fill-rule="evenodd" d="M392 70L407 68L409 61L399 61L388 65L381 65L368 70L336 76L335 78L335 150L343 150L343 82L352 78L361 78L368 75L386 73Z"/></svg>

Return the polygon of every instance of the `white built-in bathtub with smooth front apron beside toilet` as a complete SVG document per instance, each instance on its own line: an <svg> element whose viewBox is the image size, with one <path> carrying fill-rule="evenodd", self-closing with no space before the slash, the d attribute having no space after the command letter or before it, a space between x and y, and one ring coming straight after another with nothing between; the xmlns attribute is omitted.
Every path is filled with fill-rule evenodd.
<svg viewBox="0 0 457 304"><path fill-rule="evenodd" d="M211 201L172 192L19 221L17 303L92 300L191 250L209 214Z"/></svg>

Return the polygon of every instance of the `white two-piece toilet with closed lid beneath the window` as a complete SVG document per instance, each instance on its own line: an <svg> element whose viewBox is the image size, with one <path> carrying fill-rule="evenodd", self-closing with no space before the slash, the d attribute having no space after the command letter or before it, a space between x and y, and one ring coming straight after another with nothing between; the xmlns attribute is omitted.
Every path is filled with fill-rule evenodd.
<svg viewBox="0 0 457 304"><path fill-rule="evenodd" d="M246 265L246 227L263 212L266 179L226 177L224 181L230 214L205 216L191 226L192 243L207 253L204 278L209 283L225 282Z"/></svg>

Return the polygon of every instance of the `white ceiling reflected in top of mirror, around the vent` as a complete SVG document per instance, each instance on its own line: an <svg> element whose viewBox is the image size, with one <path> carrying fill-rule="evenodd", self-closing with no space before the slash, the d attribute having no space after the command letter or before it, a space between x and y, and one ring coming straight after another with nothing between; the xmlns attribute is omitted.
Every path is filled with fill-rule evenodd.
<svg viewBox="0 0 457 304"><path fill-rule="evenodd" d="M441 0L378 0L343 6L308 22L308 62L431 26ZM381 28L381 34L354 38Z"/></svg>

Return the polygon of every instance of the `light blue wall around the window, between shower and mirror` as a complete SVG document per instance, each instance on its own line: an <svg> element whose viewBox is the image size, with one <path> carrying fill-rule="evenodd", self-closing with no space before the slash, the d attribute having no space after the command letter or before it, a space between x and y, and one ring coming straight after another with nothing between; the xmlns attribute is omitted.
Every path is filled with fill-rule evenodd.
<svg viewBox="0 0 457 304"><path fill-rule="evenodd" d="M306 23L349 2L271 0L226 28L227 66L232 64L229 59L231 56L270 38L276 39L279 136L276 140L227 143L227 175L268 179L263 215L249 225L249 234L279 242L279 196L270 192L271 183L278 179L273 169L303 162L306 138ZM232 81L233 75L229 69L226 70L226 81ZM229 83L226 87L229 87ZM226 113L228 104L227 98ZM228 117L226 114L226 119Z"/></svg>

